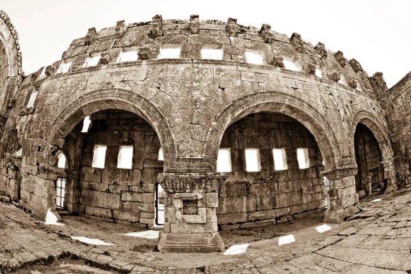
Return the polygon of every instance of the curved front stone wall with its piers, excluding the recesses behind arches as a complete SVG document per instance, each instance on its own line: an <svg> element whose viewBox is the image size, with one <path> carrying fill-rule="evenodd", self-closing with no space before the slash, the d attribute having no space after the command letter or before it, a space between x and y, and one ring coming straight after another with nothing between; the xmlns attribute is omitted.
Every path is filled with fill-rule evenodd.
<svg viewBox="0 0 411 274"><path fill-rule="evenodd" d="M164 58L164 49L177 55ZM201 58L202 49L222 50L221 60ZM129 53L134 60L121 62L132 51L137 51ZM253 64L251 55L260 64ZM197 240L208 235L209 243L198 245L199 250L220 250L216 208L226 177L216 174L216 158L224 132L249 114L274 112L312 134L325 161L314 177L327 176L332 188L326 219L342 221L358 201L353 177L358 123L379 142L387 189L396 187L388 127L377 101L382 83L382 75L369 77L342 52L332 53L321 42L314 47L299 34L288 38L269 25L256 29L232 18L224 23L198 16L190 21L154 16L129 25L119 21L100 32L89 29L73 40L62 60L25 77L3 134L3 140L15 136L7 140L5 152L21 177L14 178L11 169L2 169L1 176L19 180L22 190L26 182L36 182L39 190L21 203L45 216L55 208L53 187L60 174L55 152L64 148L75 126L101 110L133 112L151 125L164 149L158 182L169 198L159 248L181 251L191 243L173 237L188 233ZM11 156L20 147L21 156ZM192 211L184 206L193 204L198 214L186 216Z"/></svg>

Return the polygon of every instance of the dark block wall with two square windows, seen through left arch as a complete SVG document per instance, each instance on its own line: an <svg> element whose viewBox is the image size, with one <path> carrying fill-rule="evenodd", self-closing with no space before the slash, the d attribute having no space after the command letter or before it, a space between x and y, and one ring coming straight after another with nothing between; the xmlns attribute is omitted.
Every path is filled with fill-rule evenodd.
<svg viewBox="0 0 411 274"><path fill-rule="evenodd" d="M90 120L80 166L79 212L153 225L155 182L163 166L154 129L140 116L123 110L97 112ZM107 145L104 169L92 167L95 145ZM133 146L132 169L117 168L124 145Z"/></svg>

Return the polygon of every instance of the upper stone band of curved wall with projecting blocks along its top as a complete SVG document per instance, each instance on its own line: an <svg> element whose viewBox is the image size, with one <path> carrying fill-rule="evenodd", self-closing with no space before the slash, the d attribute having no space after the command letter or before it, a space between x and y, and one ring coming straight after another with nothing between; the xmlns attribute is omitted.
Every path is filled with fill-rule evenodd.
<svg viewBox="0 0 411 274"><path fill-rule="evenodd" d="M60 64L70 62L69 72L75 71L84 67L88 58L97 55L101 56L99 64L103 65L118 62L120 53L127 51L138 51L138 60L156 59L163 47L179 47L181 53L177 58L189 60L202 59L201 49L205 47L222 49L223 61L247 62L246 51L251 51L262 56L264 65L287 69L284 62L294 62L300 72L317 75L320 70L325 79L348 88L376 95L381 92L378 87L375 90L372 77L357 60L347 60L342 51L329 51L323 42L314 47L302 40L300 34L288 37L271 30L269 24L262 24L258 29L239 25L236 18L228 18L227 22L200 20L197 14L191 15L189 20L163 20L162 15L157 14L152 21L128 25L119 21L116 26L105 27L99 32L92 27L86 36L73 40L62 60L47 66L45 74L54 75ZM32 75L32 81L41 71Z"/></svg>

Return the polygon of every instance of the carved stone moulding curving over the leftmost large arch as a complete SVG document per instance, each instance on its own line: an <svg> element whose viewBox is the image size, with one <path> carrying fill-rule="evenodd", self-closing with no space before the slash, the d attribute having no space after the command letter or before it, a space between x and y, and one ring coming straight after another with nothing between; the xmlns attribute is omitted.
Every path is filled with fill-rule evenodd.
<svg viewBox="0 0 411 274"><path fill-rule="evenodd" d="M169 159L176 157L173 134L164 114L147 99L121 89L95 90L70 103L53 121L47 134L47 142L61 148L64 138L84 117L110 108L134 112L153 127L164 151L164 166Z"/></svg>

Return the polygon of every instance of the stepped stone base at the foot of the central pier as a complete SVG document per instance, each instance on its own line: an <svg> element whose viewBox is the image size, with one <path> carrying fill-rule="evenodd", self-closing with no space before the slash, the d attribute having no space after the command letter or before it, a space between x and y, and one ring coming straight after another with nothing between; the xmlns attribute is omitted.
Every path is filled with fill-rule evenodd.
<svg viewBox="0 0 411 274"><path fill-rule="evenodd" d="M224 242L219 232L214 233L164 233L158 240L160 252L208 253L224 251Z"/></svg>

